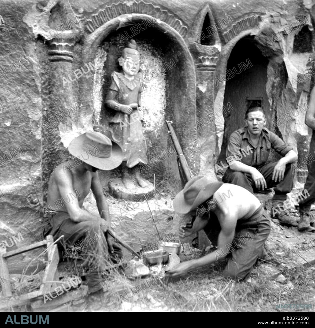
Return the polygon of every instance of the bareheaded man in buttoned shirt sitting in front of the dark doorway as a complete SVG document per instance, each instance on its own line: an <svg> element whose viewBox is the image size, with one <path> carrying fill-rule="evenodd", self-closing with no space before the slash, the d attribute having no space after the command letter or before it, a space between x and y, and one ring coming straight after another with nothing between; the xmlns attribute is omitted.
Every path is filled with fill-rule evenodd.
<svg viewBox="0 0 315 328"><path fill-rule="evenodd" d="M250 193L264 191L274 187L272 207L281 210L271 217L278 218L287 226L297 226L295 218L285 209L283 201L293 188L291 163L297 160L297 154L266 126L263 109L250 107L245 114L246 126L234 131L227 146L227 159L230 167L223 176L223 182L239 185ZM242 149L248 149L246 156L239 156ZM283 156L279 161L267 163L270 150L274 149ZM271 210L272 211L272 210Z"/></svg>

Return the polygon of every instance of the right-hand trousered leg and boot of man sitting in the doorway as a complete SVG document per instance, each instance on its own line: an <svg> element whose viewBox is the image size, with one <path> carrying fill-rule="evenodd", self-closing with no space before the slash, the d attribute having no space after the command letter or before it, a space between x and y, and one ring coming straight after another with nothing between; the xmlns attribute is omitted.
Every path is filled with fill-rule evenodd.
<svg viewBox="0 0 315 328"><path fill-rule="evenodd" d="M298 225L296 219L290 215L290 212L285 208L283 203L287 199L287 193L290 193L293 188L291 163L286 165L284 178L280 182L272 180L272 174L276 164L277 162L268 163L257 168L257 170L264 176L267 188L274 187L275 193L271 199L272 208L270 216L272 218L277 218L283 225L296 227Z"/></svg>

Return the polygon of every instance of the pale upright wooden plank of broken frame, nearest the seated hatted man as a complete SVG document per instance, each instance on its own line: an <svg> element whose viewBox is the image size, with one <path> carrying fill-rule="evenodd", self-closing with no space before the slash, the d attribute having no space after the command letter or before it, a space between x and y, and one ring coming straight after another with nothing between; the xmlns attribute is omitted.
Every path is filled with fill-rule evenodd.
<svg viewBox="0 0 315 328"><path fill-rule="evenodd" d="M48 263L46 265L46 270L43 277L43 283L39 289L40 294L46 294L52 286L52 282L55 279L58 263L59 263L59 254L57 245L53 245L53 238L51 235L46 237L47 240L47 248L48 248Z"/></svg>

